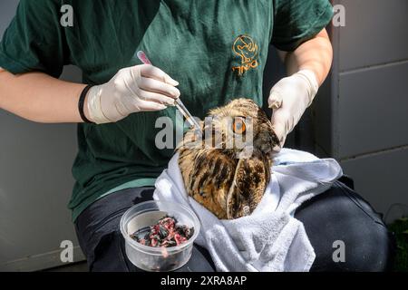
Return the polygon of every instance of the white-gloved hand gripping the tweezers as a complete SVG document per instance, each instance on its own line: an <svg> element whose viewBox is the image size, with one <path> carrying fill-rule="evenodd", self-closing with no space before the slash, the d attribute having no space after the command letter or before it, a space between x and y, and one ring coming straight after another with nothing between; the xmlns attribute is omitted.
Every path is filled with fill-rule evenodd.
<svg viewBox="0 0 408 290"><path fill-rule="evenodd" d="M111 81L90 89L88 119L97 124L120 121L132 112L160 111L180 97L179 82L159 68L141 64L121 69Z"/></svg>

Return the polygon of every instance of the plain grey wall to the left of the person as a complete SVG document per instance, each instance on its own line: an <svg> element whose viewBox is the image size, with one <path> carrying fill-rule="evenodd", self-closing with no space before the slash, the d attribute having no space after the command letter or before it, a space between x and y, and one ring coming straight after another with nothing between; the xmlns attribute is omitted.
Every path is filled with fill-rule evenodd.
<svg viewBox="0 0 408 290"><path fill-rule="evenodd" d="M0 38L17 4L0 1ZM63 79L80 82L81 73L67 67ZM78 245L66 208L75 154L74 124L36 124L0 110L0 271L61 265L61 241ZM78 248L74 256L83 259Z"/></svg>

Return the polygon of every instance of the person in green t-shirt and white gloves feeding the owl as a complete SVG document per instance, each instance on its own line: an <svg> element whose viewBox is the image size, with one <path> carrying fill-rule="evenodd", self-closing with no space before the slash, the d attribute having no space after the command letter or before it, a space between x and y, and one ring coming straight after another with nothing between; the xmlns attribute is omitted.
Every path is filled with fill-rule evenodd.
<svg viewBox="0 0 408 290"><path fill-rule="evenodd" d="M73 25L60 22L62 5L73 8ZM155 121L175 120L175 99L199 118L238 97L262 105L272 44L287 64L267 100L283 146L329 72L332 16L327 0L20 1L0 43L0 108L78 123L69 208L92 270L130 268L122 251L116 262L104 257L118 256L118 218L151 198L170 160L172 149L155 146ZM83 83L57 79L65 64L82 70Z"/></svg>

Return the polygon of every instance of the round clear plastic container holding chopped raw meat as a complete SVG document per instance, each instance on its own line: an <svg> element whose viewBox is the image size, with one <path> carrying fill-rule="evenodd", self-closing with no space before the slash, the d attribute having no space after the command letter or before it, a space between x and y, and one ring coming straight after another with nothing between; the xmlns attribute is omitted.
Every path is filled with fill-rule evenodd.
<svg viewBox="0 0 408 290"><path fill-rule="evenodd" d="M194 234L177 247L144 246L130 237L135 231L156 224L169 215L178 224L194 227ZM134 266L145 271L173 271L189 262L194 240L199 236L199 218L189 208L178 203L146 201L128 209L121 217L121 235L125 239L126 255Z"/></svg>

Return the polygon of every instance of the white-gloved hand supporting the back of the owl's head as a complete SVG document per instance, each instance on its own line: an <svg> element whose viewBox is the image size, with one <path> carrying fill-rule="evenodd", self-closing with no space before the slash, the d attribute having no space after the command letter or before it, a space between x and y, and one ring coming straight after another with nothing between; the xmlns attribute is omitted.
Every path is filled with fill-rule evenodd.
<svg viewBox="0 0 408 290"><path fill-rule="evenodd" d="M316 74L301 70L277 82L269 94L269 108L273 109L272 127L280 140L280 150L290 133L312 103L318 90Z"/></svg>

